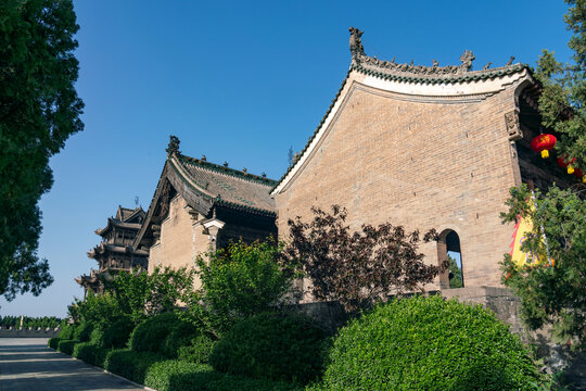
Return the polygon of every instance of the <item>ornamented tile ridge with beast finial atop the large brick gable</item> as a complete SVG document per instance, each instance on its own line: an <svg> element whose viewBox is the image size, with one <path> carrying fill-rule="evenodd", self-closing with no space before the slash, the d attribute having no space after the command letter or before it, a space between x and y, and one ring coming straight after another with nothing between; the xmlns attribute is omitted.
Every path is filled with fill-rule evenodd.
<svg viewBox="0 0 586 391"><path fill-rule="evenodd" d="M461 64L459 65L440 66L436 60L433 60L432 66L413 65L412 61L410 64L399 64L395 62L395 59L383 61L377 59L375 55L367 55L360 39L364 31L355 27L351 27L349 31L351 68L383 79L431 84L462 83L507 76L528 67L521 63L512 64L514 56L511 56L509 62L504 66L491 68L492 63L488 63L480 71L471 71L472 61L474 61L475 56L470 50L464 50L460 56Z"/></svg>

